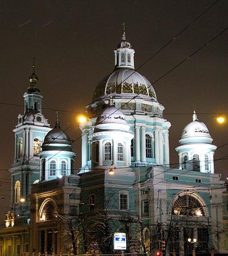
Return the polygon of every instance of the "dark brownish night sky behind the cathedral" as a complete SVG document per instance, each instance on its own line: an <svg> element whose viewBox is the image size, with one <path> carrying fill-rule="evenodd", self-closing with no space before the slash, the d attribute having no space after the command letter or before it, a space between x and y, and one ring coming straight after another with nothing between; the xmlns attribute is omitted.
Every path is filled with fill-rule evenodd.
<svg viewBox="0 0 228 256"><path fill-rule="evenodd" d="M60 111L61 127L72 122L71 139L80 136L75 115L84 112L97 83L113 70L114 54L122 37L122 23L135 49L135 66L160 49L214 1L1 1L0 2L0 102L23 105L23 93L32 73L33 56L43 95L43 107ZM151 83L228 26L228 1L214 5L193 26L146 63L140 73ZM199 51L182 66L154 85L157 98L171 122L171 163L177 163L175 147L191 115L180 113L228 113L228 32ZM10 168L14 159L14 129L23 107L0 104L1 181L0 218L10 202ZM55 111L44 110L52 127ZM74 114L75 113L75 114ZM171 115L175 114L175 115ZM207 124L213 144L228 142L227 125L218 125L216 114L198 115ZM228 114L227 114L228 118ZM81 165L81 140L74 143L77 167ZM228 154L221 147L215 159ZM215 172L225 179L227 160L215 162Z"/></svg>

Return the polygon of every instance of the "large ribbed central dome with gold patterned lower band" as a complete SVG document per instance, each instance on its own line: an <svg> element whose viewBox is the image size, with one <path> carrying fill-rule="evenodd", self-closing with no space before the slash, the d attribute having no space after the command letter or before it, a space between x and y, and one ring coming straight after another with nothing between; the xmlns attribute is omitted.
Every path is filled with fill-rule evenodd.
<svg viewBox="0 0 228 256"><path fill-rule="evenodd" d="M157 101L154 88L150 85L151 83L140 73L129 68L119 68L101 80L96 87L93 100L107 94L113 96L131 94L129 97L132 97L132 94L140 94L139 98L152 98Z"/></svg>

